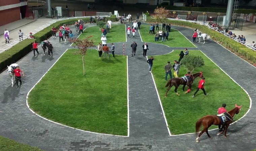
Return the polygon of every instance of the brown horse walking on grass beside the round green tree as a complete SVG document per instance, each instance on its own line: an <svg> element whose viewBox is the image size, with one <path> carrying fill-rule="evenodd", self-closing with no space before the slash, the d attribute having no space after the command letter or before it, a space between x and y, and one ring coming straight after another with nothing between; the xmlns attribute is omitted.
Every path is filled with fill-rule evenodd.
<svg viewBox="0 0 256 151"><path fill-rule="evenodd" d="M167 91L166 91L166 93L165 93L165 97L167 96L167 93L168 93L168 91L170 90L170 88L171 88L172 86L175 87L174 91L175 91L175 93L176 93L178 96L179 96L180 94L177 92L177 89L178 89L178 87L179 87L180 85L188 85L188 92L189 92L189 90L191 89L191 84L194 82L194 80L195 80L197 77L203 78L203 72L200 71L200 72L191 74L190 77L191 77L192 80L191 80L191 81L188 81L188 83L185 82L185 81L183 81L182 78L172 78L172 79L170 79L170 80L167 82L166 86L165 86L165 87L168 87L168 86L169 86L168 89L167 89Z"/></svg>

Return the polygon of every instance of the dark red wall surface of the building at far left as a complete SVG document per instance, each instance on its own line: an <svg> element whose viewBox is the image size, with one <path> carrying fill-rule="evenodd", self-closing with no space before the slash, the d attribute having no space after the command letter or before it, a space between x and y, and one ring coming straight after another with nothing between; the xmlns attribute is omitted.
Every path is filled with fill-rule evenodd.
<svg viewBox="0 0 256 151"><path fill-rule="evenodd" d="M0 11L1 21L0 26L3 26L4 24L20 20L20 7L15 7L11 9L1 10ZM8 28L8 27L6 27Z"/></svg>

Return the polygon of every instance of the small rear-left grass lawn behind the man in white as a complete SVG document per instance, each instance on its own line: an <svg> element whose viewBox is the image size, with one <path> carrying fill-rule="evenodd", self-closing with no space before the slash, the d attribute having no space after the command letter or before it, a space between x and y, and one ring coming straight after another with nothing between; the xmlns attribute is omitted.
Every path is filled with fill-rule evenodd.
<svg viewBox="0 0 256 151"><path fill-rule="evenodd" d="M104 27L105 28L105 27ZM83 34L81 34L78 38L83 39L88 36L93 36L92 39L94 41L94 45L98 45L101 43L101 34L102 32L99 30L98 26L87 28ZM106 34L107 43L116 43L116 42L125 42L125 25L115 25L113 24L111 29L109 29L109 33Z"/></svg>

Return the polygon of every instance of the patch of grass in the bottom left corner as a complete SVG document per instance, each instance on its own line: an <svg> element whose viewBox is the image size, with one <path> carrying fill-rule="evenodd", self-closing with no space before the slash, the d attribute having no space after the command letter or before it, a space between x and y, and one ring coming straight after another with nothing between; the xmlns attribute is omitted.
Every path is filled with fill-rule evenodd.
<svg viewBox="0 0 256 151"><path fill-rule="evenodd" d="M0 136L1 151L43 151L38 147L32 147L22 143L15 142L11 139Z"/></svg>

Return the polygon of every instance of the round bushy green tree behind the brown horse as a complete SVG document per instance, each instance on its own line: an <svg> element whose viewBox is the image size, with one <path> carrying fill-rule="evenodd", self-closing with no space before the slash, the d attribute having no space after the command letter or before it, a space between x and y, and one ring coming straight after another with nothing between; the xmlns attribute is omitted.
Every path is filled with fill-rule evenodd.
<svg viewBox="0 0 256 151"><path fill-rule="evenodd" d="M191 73L198 67L204 65L203 58L201 56L196 55L186 55L180 62L182 66L184 66L187 71Z"/></svg>

